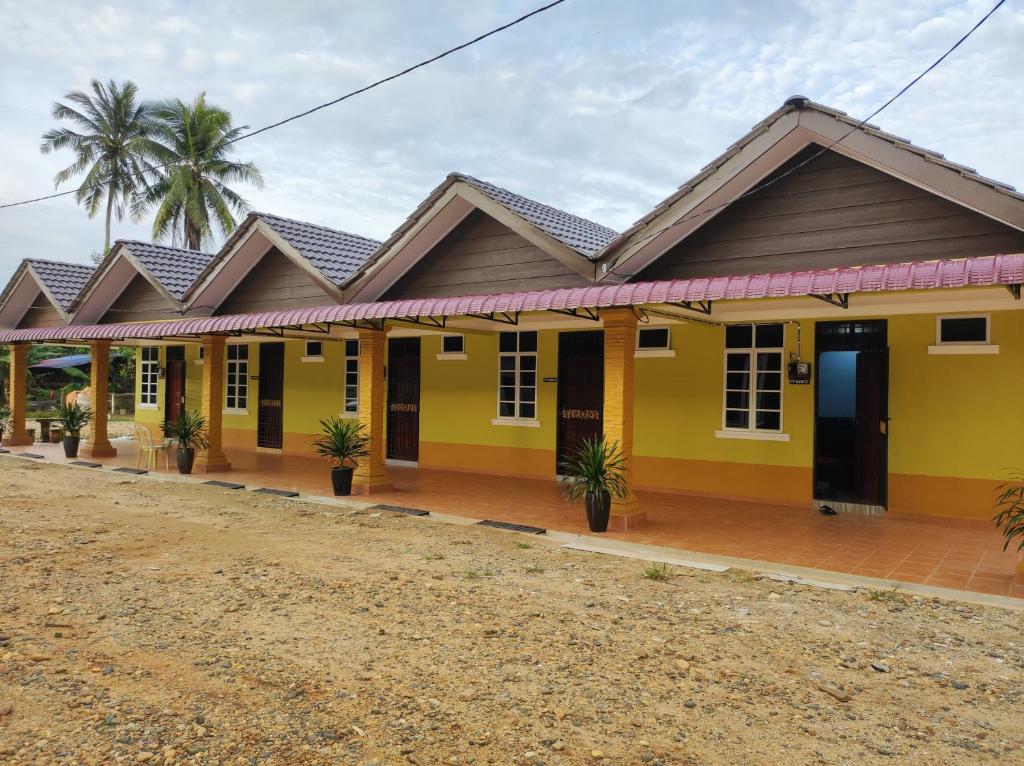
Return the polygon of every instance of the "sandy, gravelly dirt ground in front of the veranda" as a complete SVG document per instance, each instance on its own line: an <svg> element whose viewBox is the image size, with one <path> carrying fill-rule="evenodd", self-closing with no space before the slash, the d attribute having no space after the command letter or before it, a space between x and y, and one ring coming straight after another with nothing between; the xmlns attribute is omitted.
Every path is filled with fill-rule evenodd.
<svg viewBox="0 0 1024 766"><path fill-rule="evenodd" d="M647 566L2 457L0 762L1024 763L1022 612Z"/></svg>

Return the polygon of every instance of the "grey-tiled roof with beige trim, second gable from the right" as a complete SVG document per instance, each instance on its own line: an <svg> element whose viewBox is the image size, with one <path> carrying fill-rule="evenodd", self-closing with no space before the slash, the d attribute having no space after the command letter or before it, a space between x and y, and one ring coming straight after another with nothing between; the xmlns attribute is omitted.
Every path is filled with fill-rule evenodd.
<svg viewBox="0 0 1024 766"><path fill-rule="evenodd" d="M474 208L589 281L594 279L595 257L616 238L614 229L587 218L465 173L449 173L349 279L346 299L382 295Z"/></svg>

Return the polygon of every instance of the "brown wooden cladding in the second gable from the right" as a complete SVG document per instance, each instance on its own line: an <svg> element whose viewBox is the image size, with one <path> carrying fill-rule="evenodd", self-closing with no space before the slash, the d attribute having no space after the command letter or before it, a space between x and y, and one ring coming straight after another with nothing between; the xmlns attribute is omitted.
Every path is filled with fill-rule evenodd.
<svg viewBox="0 0 1024 766"><path fill-rule="evenodd" d="M380 300L494 295L590 284L505 224L474 210Z"/></svg>

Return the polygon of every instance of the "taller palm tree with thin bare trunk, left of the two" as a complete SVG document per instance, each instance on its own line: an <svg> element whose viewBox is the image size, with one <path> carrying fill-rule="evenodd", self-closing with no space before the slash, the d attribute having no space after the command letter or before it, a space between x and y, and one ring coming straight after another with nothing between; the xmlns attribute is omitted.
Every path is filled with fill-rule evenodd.
<svg viewBox="0 0 1024 766"><path fill-rule="evenodd" d="M73 90L65 96L69 103L53 104L53 117L69 120L78 129L53 128L43 133L39 151L44 155L70 148L74 164L54 176L54 185L85 174L75 193L75 201L84 205L89 217L106 202L106 226L103 254L111 249L111 218L124 218L126 209L136 213L146 187L145 174L148 136L153 130L151 104L139 101L138 87L131 81L101 83L93 80L92 94Z"/></svg>

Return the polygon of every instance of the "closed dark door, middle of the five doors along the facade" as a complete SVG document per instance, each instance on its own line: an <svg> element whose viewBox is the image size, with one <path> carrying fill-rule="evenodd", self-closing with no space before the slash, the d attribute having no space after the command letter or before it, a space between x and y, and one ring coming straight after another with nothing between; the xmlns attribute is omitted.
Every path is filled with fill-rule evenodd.
<svg viewBox="0 0 1024 766"><path fill-rule="evenodd" d="M420 339L387 342L387 457L420 459Z"/></svg>

